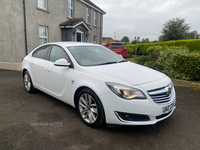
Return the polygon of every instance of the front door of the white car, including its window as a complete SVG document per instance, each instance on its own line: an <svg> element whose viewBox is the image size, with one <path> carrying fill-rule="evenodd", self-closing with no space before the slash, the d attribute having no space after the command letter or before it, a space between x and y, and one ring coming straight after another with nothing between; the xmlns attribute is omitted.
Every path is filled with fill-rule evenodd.
<svg viewBox="0 0 200 150"><path fill-rule="evenodd" d="M55 66L54 62L64 58L71 63L65 50L59 46L52 46L49 55L49 62L46 65L45 72L45 88L47 92L59 97L62 100L70 99L71 93L71 77L74 72L73 67Z"/></svg>

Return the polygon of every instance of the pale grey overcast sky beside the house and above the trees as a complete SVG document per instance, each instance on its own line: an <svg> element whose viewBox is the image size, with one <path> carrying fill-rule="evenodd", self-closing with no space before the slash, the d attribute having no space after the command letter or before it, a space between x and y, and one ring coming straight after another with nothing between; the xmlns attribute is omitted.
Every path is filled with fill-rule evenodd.
<svg viewBox="0 0 200 150"><path fill-rule="evenodd" d="M158 40L163 24L173 18L185 18L190 31L200 34L200 0L91 0L106 12L103 37L121 40L135 36Z"/></svg>

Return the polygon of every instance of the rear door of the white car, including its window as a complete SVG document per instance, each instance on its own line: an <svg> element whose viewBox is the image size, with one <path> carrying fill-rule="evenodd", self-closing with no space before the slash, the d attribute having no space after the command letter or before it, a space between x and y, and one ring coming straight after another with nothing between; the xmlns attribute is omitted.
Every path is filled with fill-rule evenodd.
<svg viewBox="0 0 200 150"><path fill-rule="evenodd" d="M35 50L32 55L32 60L30 62L30 72L33 83L36 88L45 89L44 85L44 73L45 64L47 64L48 54L50 46L42 46Z"/></svg>

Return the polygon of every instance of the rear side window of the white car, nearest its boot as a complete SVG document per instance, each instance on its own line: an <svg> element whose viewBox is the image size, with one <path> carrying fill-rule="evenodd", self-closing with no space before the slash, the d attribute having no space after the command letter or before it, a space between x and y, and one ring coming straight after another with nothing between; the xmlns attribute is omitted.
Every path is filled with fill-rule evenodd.
<svg viewBox="0 0 200 150"><path fill-rule="evenodd" d="M46 46L40 47L39 49L34 51L32 56L36 57L36 58L47 60L48 52L49 52L49 46L46 45Z"/></svg>

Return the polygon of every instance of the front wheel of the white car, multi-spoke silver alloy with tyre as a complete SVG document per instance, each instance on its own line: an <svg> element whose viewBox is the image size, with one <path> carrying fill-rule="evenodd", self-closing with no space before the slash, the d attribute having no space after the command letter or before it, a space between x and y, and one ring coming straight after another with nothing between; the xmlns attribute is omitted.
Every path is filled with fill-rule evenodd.
<svg viewBox="0 0 200 150"><path fill-rule="evenodd" d="M82 121L90 127L105 125L104 109L98 96L90 89L83 89L77 96L77 110Z"/></svg>

